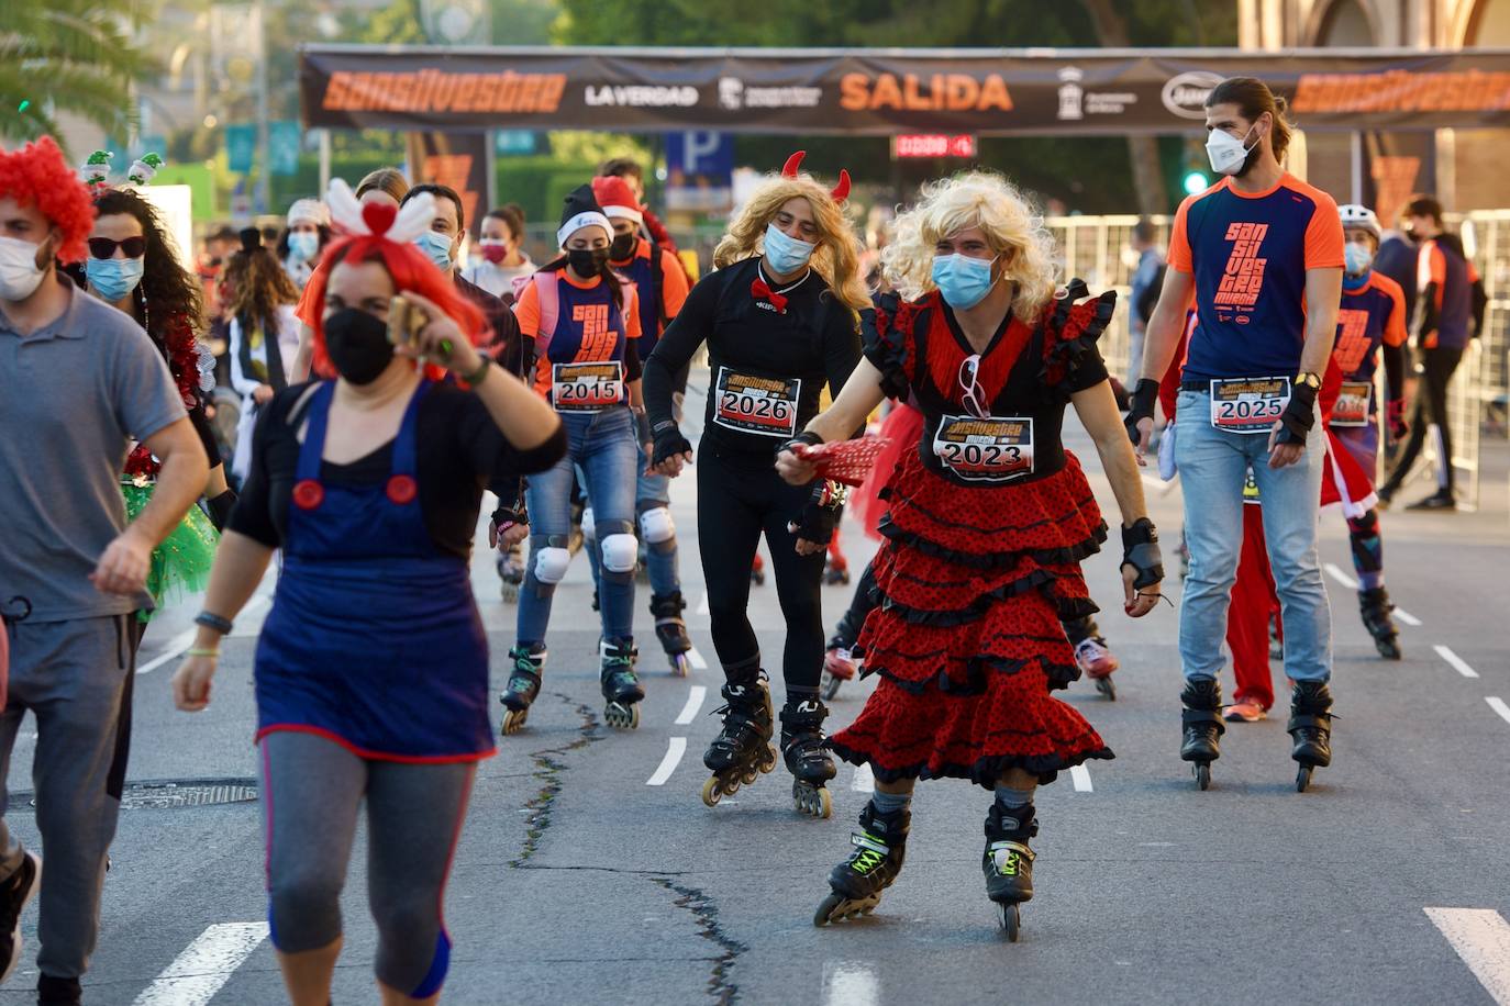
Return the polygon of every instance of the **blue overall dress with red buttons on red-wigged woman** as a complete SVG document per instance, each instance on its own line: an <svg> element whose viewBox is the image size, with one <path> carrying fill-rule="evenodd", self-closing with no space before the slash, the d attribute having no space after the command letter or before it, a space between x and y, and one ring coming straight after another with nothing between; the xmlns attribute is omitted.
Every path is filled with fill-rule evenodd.
<svg viewBox="0 0 1510 1006"><path fill-rule="evenodd" d="M379 486L320 480L335 383L310 404L278 593L257 646L257 739L328 738L364 759L494 753L488 638L465 558L430 538L415 483L421 382Z"/></svg>

